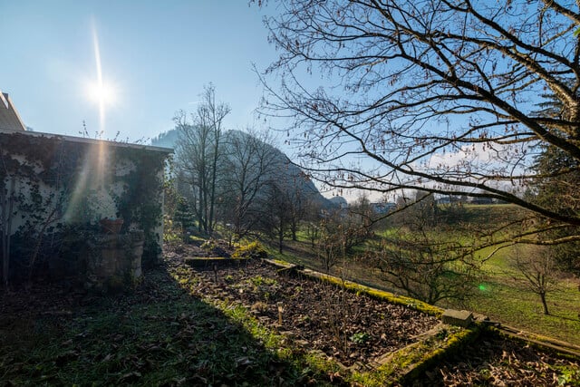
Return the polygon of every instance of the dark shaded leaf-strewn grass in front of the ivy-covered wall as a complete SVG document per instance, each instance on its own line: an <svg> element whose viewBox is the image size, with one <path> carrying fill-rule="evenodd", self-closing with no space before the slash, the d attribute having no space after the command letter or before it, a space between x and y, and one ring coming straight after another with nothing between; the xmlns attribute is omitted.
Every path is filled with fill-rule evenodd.
<svg viewBox="0 0 580 387"><path fill-rule="evenodd" d="M165 267L146 272L131 294L73 304L70 314L3 311L0 386L295 385L316 376L189 295Z"/></svg>

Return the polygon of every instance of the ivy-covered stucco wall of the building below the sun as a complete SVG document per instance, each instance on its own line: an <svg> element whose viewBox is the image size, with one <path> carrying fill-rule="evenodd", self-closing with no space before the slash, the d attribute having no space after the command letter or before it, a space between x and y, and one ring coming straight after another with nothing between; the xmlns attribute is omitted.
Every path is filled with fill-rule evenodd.
<svg viewBox="0 0 580 387"><path fill-rule="evenodd" d="M161 254L168 153L111 141L0 131L3 279L82 271L84 242L100 232L102 218L122 218L121 234L143 230L143 265L155 264Z"/></svg>

